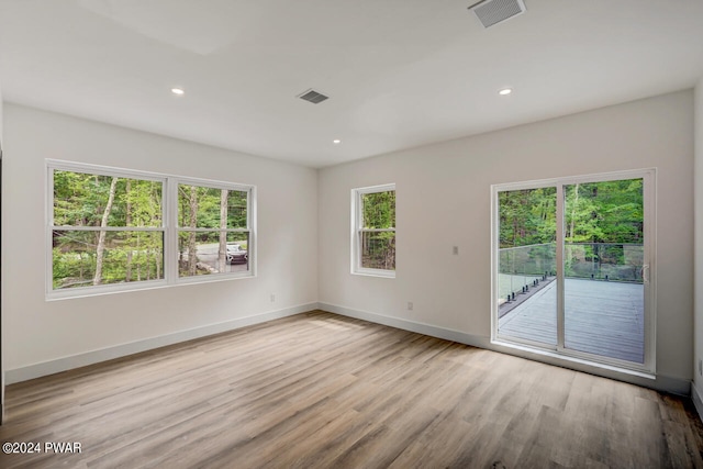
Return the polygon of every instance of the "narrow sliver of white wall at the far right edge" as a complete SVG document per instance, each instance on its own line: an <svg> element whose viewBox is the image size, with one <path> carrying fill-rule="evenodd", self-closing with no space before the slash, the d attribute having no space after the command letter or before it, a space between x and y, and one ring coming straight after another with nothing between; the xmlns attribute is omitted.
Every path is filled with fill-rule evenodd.
<svg viewBox="0 0 703 469"><path fill-rule="evenodd" d="M694 342L693 355L693 402L703 415L703 375L699 361L703 360L703 78L695 87L695 289L694 289Z"/></svg>

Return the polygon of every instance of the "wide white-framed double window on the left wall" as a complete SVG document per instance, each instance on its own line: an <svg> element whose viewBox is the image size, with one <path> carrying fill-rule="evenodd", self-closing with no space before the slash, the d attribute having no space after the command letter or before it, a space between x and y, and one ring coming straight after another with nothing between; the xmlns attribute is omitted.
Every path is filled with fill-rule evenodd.
<svg viewBox="0 0 703 469"><path fill-rule="evenodd" d="M253 275L250 186L48 161L49 298Z"/></svg>

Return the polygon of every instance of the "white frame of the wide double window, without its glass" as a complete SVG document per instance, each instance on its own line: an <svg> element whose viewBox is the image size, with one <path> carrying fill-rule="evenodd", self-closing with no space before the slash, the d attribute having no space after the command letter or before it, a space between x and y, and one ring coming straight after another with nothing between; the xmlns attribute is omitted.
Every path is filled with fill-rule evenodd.
<svg viewBox="0 0 703 469"><path fill-rule="evenodd" d="M256 277L256 187L226 181L215 181L210 179L183 177L159 172L142 171L134 169L116 168L66 161L57 159L45 160L46 175L46 206L45 206L45 298L46 300L59 300L70 298L92 297L124 291L148 290L154 288L174 287L179 284L208 283L241 278ZM96 176L131 178L148 181L161 182L161 224L155 227L136 226L58 226L54 225L54 171L72 171ZM247 244L248 269L235 272L217 272L207 276L180 277L178 273L178 186L192 185L205 188L226 189L247 193L247 228L249 241ZM53 232L54 231L89 231L89 232L160 232L163 233L163 269L164 278L155 280L140 280L131 282L105 283L100 286L75 287L67 289L54 289L54 254L53 254ZM221 228L197 228L199 231L217 232ZM236 232L239 228L226 228Z"/></svg>

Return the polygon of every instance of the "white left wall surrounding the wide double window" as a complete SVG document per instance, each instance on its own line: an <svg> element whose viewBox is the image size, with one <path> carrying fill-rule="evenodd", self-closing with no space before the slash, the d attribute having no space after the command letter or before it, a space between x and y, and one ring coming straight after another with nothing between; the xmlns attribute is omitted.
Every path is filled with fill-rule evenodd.
<svg viewBox="0 0 703 469"><path fill-rule="evenodd" d="M316 170L11 103L4 111L9 382L316 305ZM45 158L257 186L258 276L45 301Z"/></svg>

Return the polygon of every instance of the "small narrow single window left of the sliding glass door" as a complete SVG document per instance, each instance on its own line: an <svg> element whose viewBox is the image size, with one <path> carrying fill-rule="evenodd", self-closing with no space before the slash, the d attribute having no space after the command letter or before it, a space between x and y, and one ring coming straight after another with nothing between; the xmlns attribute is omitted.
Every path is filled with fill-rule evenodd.
<svg viewBox="0 0 703 469"><path fill-rule="evenodd" d="M395 276L395 185L352 191L352 271Z"/></svg>

